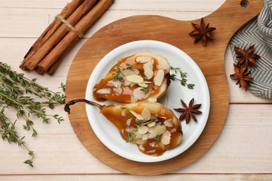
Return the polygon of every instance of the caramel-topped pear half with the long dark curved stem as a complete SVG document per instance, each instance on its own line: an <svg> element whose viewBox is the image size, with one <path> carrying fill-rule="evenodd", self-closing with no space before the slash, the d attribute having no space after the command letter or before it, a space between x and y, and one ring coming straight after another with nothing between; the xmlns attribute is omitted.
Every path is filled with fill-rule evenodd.
<svg viewBox="0 0 272 181"><path fill-rule="evenodd" d="M124 141L137 144L146 155L163 155L165 150L181 143L183 135L179 118L158 102L105 106L88 100L72 100L66 104L65 111L70 112L70 105L76 102L98 107L100 113L119 129Z"/></svg>

